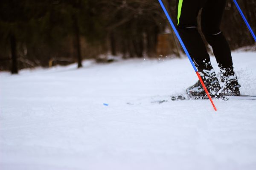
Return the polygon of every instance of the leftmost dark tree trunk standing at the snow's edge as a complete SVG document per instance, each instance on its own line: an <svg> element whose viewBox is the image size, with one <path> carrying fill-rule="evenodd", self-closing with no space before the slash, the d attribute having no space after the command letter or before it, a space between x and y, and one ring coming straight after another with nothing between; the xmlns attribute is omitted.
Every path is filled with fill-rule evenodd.
<svg viewBox="0 0 256 170"><path fill-rule="evenodd" d="M11 53L12 53L12 74L18 74L18 63L17 63L17 44L14 34L10 34Z"/></svg>

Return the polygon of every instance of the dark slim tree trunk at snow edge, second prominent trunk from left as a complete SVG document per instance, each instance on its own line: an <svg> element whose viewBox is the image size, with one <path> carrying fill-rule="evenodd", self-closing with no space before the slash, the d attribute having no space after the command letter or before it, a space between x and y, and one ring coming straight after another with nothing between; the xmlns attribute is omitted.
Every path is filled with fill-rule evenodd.
<svg viewBox="0 0 256 170"><path fill-rule="evenodd" d="M79 31L77 16L75 14L73 15L73 26L74 26L75 39L76 39L75 43L76 43L76 51L77 51L77 63L78 63L78 68L81 68L83 65L82 65L82 57L81 57L80 31Z"/></svg>

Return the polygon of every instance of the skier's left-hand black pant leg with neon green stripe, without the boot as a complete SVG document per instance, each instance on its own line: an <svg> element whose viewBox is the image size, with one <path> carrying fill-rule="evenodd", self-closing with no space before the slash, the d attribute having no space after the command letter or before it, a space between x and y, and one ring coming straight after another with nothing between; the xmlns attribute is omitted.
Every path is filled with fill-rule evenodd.
<svg viewBox="0 0 256 170"><path fill-rule="evenodd" d="M177 0L177 30L199 71L212 69L209 54L197 29L201 1Z"/></svg>

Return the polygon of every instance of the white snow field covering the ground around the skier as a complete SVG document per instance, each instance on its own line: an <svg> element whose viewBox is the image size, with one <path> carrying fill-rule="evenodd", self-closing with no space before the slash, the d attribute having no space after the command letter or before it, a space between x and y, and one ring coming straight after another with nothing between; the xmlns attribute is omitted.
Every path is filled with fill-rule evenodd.
<svg viewBox="0 0 256 170"><path fill-rule="evenodd" d="M233 62L256 95L256 52ZM196 81L185 57L2 72L0 170L255 170L256 101L170 100Z"/></svg>

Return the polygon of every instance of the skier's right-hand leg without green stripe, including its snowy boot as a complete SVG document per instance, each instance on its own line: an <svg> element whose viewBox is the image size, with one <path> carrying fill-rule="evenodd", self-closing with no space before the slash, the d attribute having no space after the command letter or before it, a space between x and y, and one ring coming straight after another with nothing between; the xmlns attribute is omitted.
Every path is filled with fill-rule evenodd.
<svg viewBox="0 0 256 170"><path fill-rule="evenodd" d="M204 36L212 46L219 67L221 80L225 84L224 93L239 96L239 83L233 71L230 47L220 30L221 18L226 0L207 0L202 9L201 26Z"/></svg>

